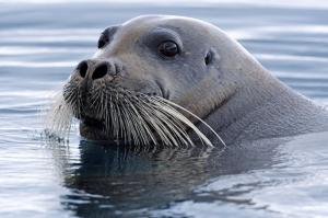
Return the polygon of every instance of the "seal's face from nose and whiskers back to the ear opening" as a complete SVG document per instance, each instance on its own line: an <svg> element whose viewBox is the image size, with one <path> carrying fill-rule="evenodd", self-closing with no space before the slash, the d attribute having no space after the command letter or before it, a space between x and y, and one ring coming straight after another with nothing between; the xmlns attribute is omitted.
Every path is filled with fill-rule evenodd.
<svg viewBox="0 0 328 218"><path fill-rule="evenodd" d="M81 121L81 135L190 142L186 131L194 124L174 107L197 103L195 95L202 95L197 92L206 91L203 85L211 89L200 82L219 76L220 56L207 43L210 38L190 34L207 28L200 21L175 16L140 16L106 28L97 53L78 65L63 88L65 102ZM196 41L200 37L202 42Z"/></svg>

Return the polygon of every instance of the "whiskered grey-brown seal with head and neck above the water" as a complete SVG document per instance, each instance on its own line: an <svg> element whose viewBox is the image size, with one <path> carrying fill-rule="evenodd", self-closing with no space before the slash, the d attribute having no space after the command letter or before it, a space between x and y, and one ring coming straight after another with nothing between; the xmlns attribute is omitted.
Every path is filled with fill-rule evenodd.
<svg viewBox="0 0 328 218"><path fill-rule="evenodd" d="M178 146L328 129L325 108L210 23L142 15L107 27L97 47L72 72L54 110L61 130L74 116L87 139Z"/></svg>

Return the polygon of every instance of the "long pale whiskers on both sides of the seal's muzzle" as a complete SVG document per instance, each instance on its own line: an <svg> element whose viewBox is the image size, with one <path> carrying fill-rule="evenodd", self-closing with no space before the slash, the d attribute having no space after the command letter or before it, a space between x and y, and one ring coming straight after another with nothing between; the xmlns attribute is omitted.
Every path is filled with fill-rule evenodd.
<svg viewBox="0 0 328 218"><path fill-rule="evenodd" d="M52 116L57 121L52 121L51 129L59 135L69 130L73 114L78 117L81 114L83 101L80 93L77 89L75 92L66 95L67 102L63 101L63 97L58 100L66 105L66 108L60 106L54 108ZM186 131L187 128L190 128L204 145L213 146L187 117L174 107L197 117L195 114L163 97L136 94L125 90L93 89L90 102L91 106L89 107L95 110L96 116L103 117L105 133L107 135L113 133L117 142L120 140L124 144L133 142L136 148L149 144L159 145L160 141L154 135L156 134L161 144L168 147L195 146Z"/></svg>

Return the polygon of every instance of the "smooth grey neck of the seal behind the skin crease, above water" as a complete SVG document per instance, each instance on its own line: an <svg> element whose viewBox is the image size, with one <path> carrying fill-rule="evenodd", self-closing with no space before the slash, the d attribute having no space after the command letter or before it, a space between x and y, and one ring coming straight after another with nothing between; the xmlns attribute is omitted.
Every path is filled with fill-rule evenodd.
<svg viewBox="0 0 328 218"><path fill-rule="evenodd" d="M248 83L204 121L225 144L323 130L327 112L270 73ZM207 131L204 128L201 129Z"/></svg>

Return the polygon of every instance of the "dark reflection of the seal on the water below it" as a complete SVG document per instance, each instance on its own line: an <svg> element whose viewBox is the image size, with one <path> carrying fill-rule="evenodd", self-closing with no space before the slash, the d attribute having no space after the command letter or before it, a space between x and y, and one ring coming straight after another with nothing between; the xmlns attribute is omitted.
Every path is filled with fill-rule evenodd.
<svg viewBox="0 0 328 218"><path fill-rule="evenodd" d="M195 190L220 175L270 168L278 145L272 141L232 146L222 152L221 148L136 150L82 140L80 163L66 170L71 173L66 174L65 185L72 194L61 204L79 217L138 217L180 200L218 200L218 195L204 197ZM229 196L219 200L225 198L231 200Z"/></svg>

